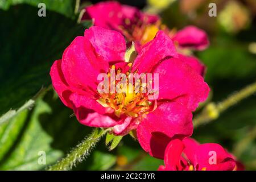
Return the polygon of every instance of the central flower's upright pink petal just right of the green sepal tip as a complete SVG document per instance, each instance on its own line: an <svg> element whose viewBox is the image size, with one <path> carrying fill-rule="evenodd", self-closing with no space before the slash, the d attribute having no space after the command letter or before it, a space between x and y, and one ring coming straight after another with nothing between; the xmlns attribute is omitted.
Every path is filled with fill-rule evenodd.
<svg viewBox="0 0 256 182"><path fill-rule="evenodd" d="M160 61L177 56L172 40L163 31L158 31L153 40L142 46L132 71L138 69L138 73L150 73Z"/></svg>

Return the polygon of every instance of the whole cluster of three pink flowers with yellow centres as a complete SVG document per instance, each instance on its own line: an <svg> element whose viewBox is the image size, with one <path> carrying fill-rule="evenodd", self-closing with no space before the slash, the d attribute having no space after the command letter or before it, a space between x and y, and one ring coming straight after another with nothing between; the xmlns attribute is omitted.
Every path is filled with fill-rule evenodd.
<svg viewBox="0 0 256 182"><path fill-rule="evenodd" d="M93 19L94 26L73 40L50 72L53 88L82 125L110 128L115 135L135 131L146 152L164 159L160 170L241 169L218 144L200 145L188 138L193 133L192 112L207 99L210 89L204 82L204 65L185 54L185 49L208 46L203 30L193 26L168 30L158 16L118 2L86 7L86 18ZM131 42L135 57L126 60ZM139 83L147 73L156 73L158 97L150 97L150 92L98 92L101 73L107 77L123 73L128 78L138 74ZM106 83L122 87L121 81ZM217 152L213 165L208 163L209 151Z"/></svg>

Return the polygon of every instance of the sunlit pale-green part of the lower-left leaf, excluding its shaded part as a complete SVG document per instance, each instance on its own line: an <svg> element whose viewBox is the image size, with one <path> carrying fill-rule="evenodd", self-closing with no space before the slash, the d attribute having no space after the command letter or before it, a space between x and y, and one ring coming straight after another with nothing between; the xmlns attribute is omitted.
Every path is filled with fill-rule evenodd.
<svg viewBox="0 0 256 182"><path fill-rule="evenodd" d="M46 152L47 164L63 155L60 150L52 150L52 138L39 122L41 114L50 112L51 107L39 100L31 114L24 110L1 126L0 169L42 169L46 165L38 163L40 151Z"/></svg>

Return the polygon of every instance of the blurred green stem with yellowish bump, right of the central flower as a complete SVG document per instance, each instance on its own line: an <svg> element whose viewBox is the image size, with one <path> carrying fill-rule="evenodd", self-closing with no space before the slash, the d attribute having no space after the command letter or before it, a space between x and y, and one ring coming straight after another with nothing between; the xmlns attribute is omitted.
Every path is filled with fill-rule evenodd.
<svg viewBox="0 0 256 182"><path fill-rule="evenodd" d="M229 107L236 105L238 102L253 95L254 93L256 93L256 82L232 94L224 101L221 101L217 104L210 102L207 106L204 107L203 111L193 119L194 127L217 119L220 113L224 112Z"/></svg>

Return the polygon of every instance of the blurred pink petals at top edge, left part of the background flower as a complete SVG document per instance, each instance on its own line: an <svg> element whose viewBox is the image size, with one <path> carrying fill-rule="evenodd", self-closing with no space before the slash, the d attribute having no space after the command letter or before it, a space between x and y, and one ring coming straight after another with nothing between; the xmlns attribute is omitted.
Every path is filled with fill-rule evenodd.
<svg viewBox="0 0 256 182"><path fill-rule="evenodd" d="M93 19L95 26L127 34L134 26L155 23L159 18L156 15L142 13L133 6L121 5L116 1L106 1L86 7L82 19Z"/></svg>

